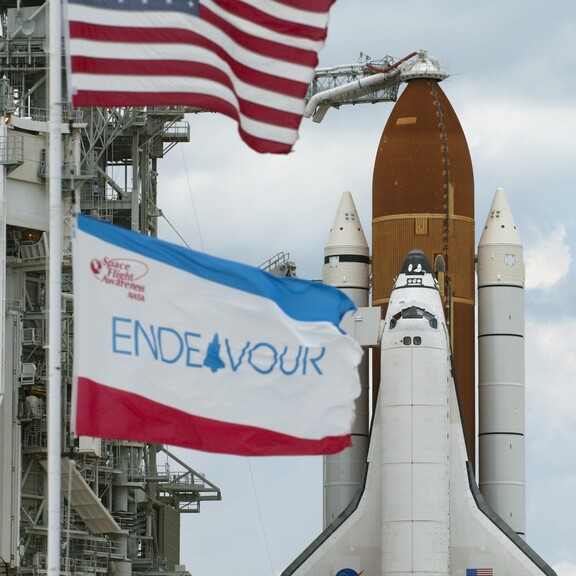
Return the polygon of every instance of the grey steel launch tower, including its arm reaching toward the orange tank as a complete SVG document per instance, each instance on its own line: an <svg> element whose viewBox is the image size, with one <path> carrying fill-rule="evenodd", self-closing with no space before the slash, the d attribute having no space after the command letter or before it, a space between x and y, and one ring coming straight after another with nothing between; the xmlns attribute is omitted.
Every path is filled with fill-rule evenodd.
<svg viewBox="0 0 576 576"><path fill-rule="evenodd" d="M48 571L47 29L47 2L0 0L0 576ZM390 57L319 70L309 116L394 101L401 82ZM61 574L186 574L180 514L221 499L166 447L69 434L72 210L156 236L158 161L190 140L186 115L198 112L62 103ZM270 271L293 275L283 266Z"/></svg>

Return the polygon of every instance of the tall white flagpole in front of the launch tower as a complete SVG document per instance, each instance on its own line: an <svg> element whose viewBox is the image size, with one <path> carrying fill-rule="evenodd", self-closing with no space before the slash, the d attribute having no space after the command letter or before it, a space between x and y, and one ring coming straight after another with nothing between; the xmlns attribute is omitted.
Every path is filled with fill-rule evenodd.
<svg viewBox="0 0 576 576"><path fill-rule="evenodd" d="M62 292L62 10L48 0L50 198L48 265L48 576L60 574L61 292Z"/></svg>

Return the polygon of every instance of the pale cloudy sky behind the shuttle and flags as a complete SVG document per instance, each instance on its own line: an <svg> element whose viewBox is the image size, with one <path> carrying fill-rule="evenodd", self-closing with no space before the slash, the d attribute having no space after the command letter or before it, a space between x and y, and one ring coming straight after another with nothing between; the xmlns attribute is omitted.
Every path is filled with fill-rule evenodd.
<svg viewBox="0 0 576 576"><path fill-rule="evenodd" d="M418 49L451 74L442 88L470 146L477 230L503 187L524 242L527 540L560 576L575 576L576 7L337 0L320 65ZM288 157L252 152L227 118L191 116L191 142L159 165L160 207L194 249L254 265L285 251L300 277L318 279L343 191L370 241L373 162L391 109L350 106L321 124L304 120ZM180 242L166 222L160 231ZM193 576L278 575L320 532L320 458L176 451L223 492L183 517L182 562Z"/></svg>

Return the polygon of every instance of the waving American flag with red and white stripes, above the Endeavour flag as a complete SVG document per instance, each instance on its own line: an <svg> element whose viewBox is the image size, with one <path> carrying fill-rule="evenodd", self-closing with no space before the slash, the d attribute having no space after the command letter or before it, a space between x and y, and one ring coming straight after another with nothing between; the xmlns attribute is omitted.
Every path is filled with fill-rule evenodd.
<svg viewBox="0 0 576 576"><path fill-rule="evenodd" d="M193 106L287 153L335 0L68 0L75 106Z"/></svg>

